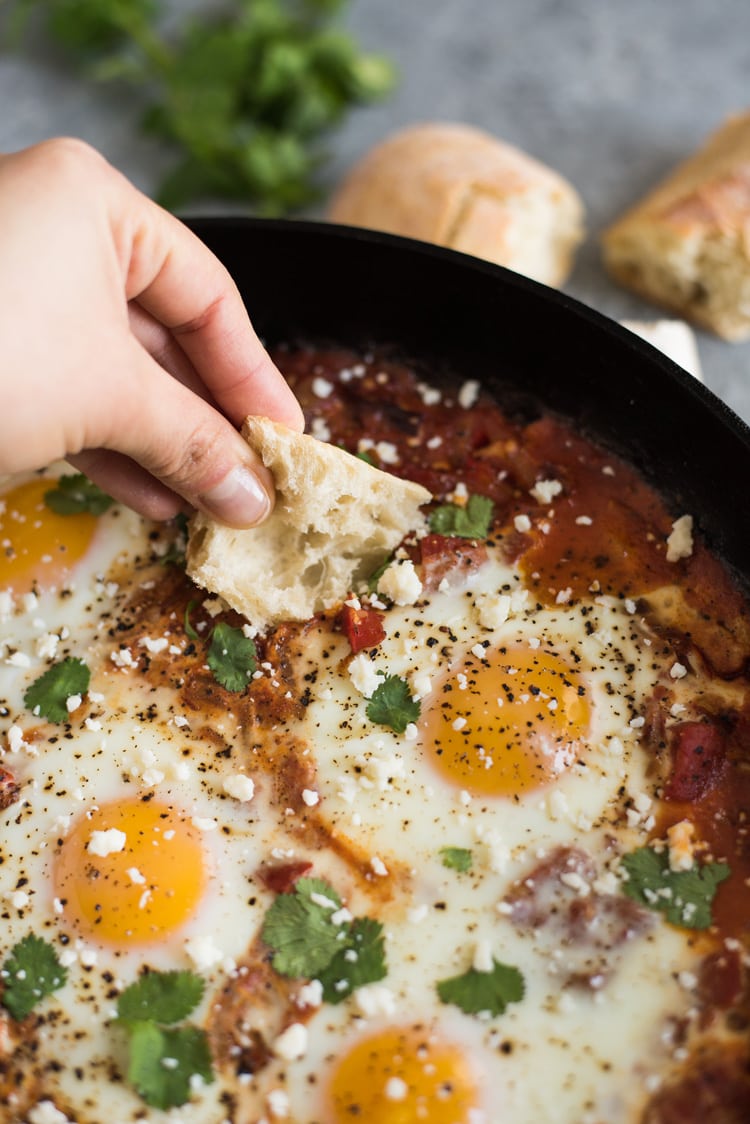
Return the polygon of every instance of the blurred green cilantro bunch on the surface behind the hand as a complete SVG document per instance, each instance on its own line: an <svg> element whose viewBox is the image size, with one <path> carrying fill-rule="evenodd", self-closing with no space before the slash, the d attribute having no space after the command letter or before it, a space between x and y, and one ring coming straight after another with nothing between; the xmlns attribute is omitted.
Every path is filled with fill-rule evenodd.
<svg viewBox="0 0 750 1124"><path fill-rule="evenodd" d="M164 0L10 0L72 65L141 94L144 132L174 154L159 200L240 200L265 215L319 194L324 140L387 93L394 70L335 25L346 0L226 0L169 25Z"/></svg>

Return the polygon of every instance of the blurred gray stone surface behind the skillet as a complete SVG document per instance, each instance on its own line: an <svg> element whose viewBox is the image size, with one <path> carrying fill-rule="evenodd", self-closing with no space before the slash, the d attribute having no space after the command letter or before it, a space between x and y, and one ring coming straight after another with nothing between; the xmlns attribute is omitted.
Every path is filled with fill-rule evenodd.
<svg viewBox="0 0 750 1124"><path fill-rule="evenodd" d="M352 0L347 21L397 62L401 80L332 138L332 183L403 125L490 129L584 197L588 238L566 290L615 318L663 315L608 280L597 236L728 114L750 106L748 0ZM137 134L137 112L121 92L92 91L43 53L0 47L0 151L79 135L151 191L165 156ZM706 383L750 420L750 344L698 333L698 350Z"/></svg>

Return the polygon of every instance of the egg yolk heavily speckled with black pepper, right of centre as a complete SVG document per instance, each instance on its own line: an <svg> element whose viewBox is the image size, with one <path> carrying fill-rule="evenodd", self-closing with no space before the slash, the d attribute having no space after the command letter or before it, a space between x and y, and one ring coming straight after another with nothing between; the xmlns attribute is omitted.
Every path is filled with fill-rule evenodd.
<svg viewBox="0 0 750 1124"><path fill-rule="evenodd" d="M439 772L477 796L516 796L573 763L589 727L581 674L542 649L469 655L422 722Z"/></svg>

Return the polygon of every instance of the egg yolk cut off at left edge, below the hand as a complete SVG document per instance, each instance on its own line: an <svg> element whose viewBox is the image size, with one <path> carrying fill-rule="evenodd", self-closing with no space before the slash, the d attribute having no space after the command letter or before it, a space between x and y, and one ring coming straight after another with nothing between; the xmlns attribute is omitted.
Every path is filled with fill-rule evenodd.
<svg viewBox="0 0 750 1124"><path fill-rule="evenodd" d="M97 518L56 515L44 502L56 479L39 477L18 484L0 501L0 586L17 593L63 582L89 549Z"/></svg>

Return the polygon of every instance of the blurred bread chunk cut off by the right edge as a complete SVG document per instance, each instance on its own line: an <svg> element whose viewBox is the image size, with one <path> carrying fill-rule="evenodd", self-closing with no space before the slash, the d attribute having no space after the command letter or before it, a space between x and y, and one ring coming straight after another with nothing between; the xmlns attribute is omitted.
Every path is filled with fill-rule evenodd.
<svg viewBox="0 0 750 1124"><path fill-rule="evenodd" d="M724 339L750 336L750 112L725 121L602 245L629 289Z"/></svg>

